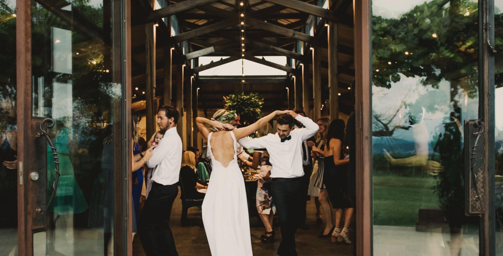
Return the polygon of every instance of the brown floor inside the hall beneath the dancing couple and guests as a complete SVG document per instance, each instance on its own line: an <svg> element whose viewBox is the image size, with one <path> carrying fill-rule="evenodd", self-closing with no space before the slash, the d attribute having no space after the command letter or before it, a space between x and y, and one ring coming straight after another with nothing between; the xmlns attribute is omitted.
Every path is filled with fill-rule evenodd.
<svg viewBox="0 0 503 256"><path fill-rule="evenodd" d="M179 255L211 255L210 247L206 239L206 233L202 227L201 210L197 207L189 209L189 226L181 226L180 216L182 212L182 202L179 197L173 204L170 226L175 236L175 243ZM319 232L323 225L317 224L315 219L316 207L314 200L307 202L307 230L298 229L296 233L297 252L299 255L353 255L353 245L339 242L330 242L330 238L319 238ZM277 220L275 220L277 221ZM279 228L276 229L276 240L274 243L263 243L260 235L264 233L262 221L258 217L250 218L251 248L254 255L277 255L276 251L281 241ZM353 225L354 226L354 225ZM354 229L354 227L353 227ZM354 234L353 234L354 236ZM133 241L133 255L145 255L138 236Z"/></svg>

